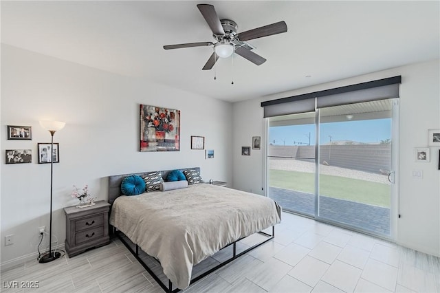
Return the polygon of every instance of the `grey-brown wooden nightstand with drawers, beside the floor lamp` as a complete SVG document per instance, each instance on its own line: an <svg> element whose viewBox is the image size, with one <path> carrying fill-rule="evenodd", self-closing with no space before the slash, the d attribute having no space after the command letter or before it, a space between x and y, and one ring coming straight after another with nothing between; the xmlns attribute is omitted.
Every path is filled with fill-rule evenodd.
<svg viewBox="0 0 440 293"><path fill-rule="evenodd" d="M88 208L76 208L76 206L64 208L65 249L69 257L110 242L109 210L110 204L103 200L95 202L94 206Z"/></svg>

